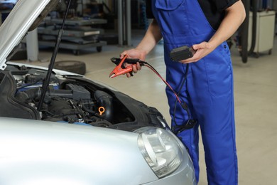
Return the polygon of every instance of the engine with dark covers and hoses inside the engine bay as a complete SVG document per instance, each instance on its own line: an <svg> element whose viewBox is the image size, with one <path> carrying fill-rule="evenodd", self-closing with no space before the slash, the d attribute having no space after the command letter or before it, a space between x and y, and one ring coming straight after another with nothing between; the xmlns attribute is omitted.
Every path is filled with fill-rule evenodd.
<svg viewBox="0 0 277 185"><path fill-rule="evenodd" d="M40 100L40 88L31 88L16 93L16 99L36 108ZM99 112L99 108L104 111ZM69 123L84 122L94 124L97 120L107 120L112 125L112 96L102 90L92 93L81 85L66 83L64 89L50 86L43 101L41 120L65 121Z"/></svg>

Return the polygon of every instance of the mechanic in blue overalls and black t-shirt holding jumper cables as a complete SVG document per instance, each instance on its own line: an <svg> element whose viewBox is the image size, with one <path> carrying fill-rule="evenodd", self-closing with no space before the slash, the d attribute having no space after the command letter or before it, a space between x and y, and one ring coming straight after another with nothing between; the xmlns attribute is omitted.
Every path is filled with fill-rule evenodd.
<svg viewBox="0 0 277 185"><path fill-rule="evenodd" d="M167 87L171 127L197 120L192 129L177 134L188 147L197 181L200 125L208 183L238 184L232 61L226 40L244 21L244 5L240 0L146 0L146 5L153 21L139 45L122 52L121 58L127 55L145 60L163 38L166 80L190 112L176 104ZM192 46L195 55L180 62L171 60L170 51L180 46ZM139 63L133 65L133 72L138 70Z"/></svg>

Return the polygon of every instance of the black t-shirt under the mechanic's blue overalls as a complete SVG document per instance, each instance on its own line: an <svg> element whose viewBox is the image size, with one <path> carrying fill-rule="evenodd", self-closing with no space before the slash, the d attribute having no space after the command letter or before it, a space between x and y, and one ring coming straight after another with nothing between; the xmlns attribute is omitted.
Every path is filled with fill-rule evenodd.
<svg viewBox="0 0 277 185"><path fill-rule="evenodd" d="M209 21L212 28L217 30L224 18L224 10L237 1L239 0L198 0L198 3L205 14L207 21ZM146 0L146 15L147 18L154 18L151 11L151 0Z"/></svg>

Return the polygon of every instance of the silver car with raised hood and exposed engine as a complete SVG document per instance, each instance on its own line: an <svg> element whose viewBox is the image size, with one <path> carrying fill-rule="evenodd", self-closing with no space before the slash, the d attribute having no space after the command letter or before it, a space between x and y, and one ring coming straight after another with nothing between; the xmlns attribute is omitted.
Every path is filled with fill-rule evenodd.
<svg viewBox="0 0 277 185"><path fill-rule="evenodd" d="M82 75L6 61L57 2L20 0L0 28L0 184L196 184L156 108Z"/></svg>

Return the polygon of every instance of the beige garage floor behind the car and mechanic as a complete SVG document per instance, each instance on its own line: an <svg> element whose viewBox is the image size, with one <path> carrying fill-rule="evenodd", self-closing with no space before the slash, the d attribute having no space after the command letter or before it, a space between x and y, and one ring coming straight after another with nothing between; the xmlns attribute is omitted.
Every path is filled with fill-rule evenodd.
<svg viewBox="0 0 277 185"><path fill-rule="evenodd" d="M138 43L142 33L133 40ZM165 119L170 121L165 97L164 83L149 70L143 68L133 78L119 76L109 78L114 69L112 57L128 47L103 46L102 52L96 48L81 51L74 56L72 51L60 50L58 60L80 60L87 65L86 77L99 80L120 90L131 97L157 107ZM259 58L249 57L242 63L237 48L232 47L234 66L235 115L237 124L237 154L239 157L239 184L277 184L277 39L271 56L261 53ZM40 51L40 61L28 62L47 66L51 50ZM163 46L159 44L148 56L151 63L163 77ZM202 145L200 145L200 185L207 184Z"/></svg>

